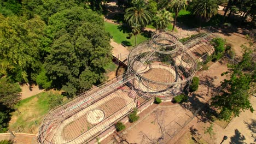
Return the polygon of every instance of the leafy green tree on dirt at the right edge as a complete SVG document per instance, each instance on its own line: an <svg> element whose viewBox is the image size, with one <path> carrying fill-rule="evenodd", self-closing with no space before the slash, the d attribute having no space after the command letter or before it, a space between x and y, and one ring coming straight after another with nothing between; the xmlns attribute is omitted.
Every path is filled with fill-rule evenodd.
<svg viewBox="0 0 256 144"><path fill-rule="evenodd" d="M223 91L212 98L211 105L220 110L220 117L228 121L231 116L239 116L241 111L250 110L253 107L249 101L250 85L256 81L255 54L252 49L242 45L243 57L240 62L229 64L230 71L223 75L230 74L229 80L222 82Z"/></svg>

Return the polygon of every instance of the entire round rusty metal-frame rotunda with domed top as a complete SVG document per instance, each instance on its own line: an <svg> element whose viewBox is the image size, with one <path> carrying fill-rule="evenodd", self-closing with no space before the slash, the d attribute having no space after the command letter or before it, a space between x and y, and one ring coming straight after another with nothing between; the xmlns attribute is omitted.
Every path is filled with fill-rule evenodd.
<svg viewBox="0 0 256 144"><path fill-rule="evenodd" d="M187 91L197 69L196 61L171 32L154 32L152 39L133 49L127 73L134 90L149 97L172 99Z"/></svg>

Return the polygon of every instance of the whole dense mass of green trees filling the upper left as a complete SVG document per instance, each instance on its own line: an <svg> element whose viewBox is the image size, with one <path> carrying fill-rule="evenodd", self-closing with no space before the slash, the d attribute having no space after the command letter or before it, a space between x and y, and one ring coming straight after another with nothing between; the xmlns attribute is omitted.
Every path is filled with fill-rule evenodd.
<svg viewBox="0 0 256 144"><path fill-rule="evenodd" d="M62 88L71 96L104 81L109 34L85 2L25 0L19 16L0 14L0 76Z"/></svg>

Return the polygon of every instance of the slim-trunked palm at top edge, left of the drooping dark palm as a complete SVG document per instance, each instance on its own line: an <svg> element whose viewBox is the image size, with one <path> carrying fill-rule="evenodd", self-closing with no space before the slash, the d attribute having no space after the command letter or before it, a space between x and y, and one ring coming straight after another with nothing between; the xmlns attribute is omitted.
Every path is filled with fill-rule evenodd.
<svg viewBox="0 0 256 144"><path fill-rule="evenodd" d="M186 0L173 0L171 2L170 7L175 13L175 18L174 18L174 21L173 21L172 31L174 30L174 27L175 27L175 24L176 24L176 19L177 19L177 16L179 14L179 11L182 10L182 9L186 9L186 6L187 6L187 1Z"/></svg>

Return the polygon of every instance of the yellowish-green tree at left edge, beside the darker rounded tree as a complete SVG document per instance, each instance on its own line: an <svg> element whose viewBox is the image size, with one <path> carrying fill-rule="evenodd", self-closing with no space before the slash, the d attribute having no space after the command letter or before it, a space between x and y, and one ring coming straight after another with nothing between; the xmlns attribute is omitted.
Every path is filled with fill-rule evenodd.
<svg viewBox="0 0 256 144"><path fill-rule="evenodd" d="M18 82L36 80L41 65L40 39L45 24L40 17L0 15L0 65L2 75Z"/></svg>

